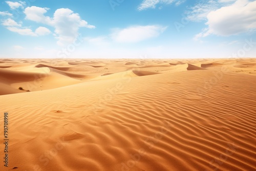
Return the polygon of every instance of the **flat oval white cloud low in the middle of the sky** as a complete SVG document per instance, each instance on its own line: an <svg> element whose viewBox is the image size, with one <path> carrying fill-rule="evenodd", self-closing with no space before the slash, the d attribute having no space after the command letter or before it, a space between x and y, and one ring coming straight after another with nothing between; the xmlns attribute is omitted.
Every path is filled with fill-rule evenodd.
<svg viewBox="0 0 256 171"><path fill-rule="evenodd" d="M117 42L139 42L157 37L166 28L158 25L134 26L125 29L115 29L111 36Z"/></svg>

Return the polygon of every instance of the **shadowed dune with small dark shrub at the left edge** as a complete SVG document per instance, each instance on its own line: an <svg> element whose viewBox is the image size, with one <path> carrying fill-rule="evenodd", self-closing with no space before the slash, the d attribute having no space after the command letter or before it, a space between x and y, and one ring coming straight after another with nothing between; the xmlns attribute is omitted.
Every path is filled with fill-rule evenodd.
<svg viewBox="0 0 256 171"><path fill-rule="evenodd" d="M69 86L80 83L81 80L92 78L94 77L59 71L48 67L29 68L18 71L0 69L0 80L3 83L0 95L24 93L23 90L18 90L19 87L22 87L28 92L48 90Z"/></svg>

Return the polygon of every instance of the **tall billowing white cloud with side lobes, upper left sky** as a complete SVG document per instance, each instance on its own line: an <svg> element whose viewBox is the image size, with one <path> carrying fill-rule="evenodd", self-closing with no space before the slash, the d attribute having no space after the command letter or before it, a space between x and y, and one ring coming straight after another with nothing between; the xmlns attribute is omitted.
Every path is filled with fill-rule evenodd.
<svg viewBox="0 0 256 171"><path fill-rule="evenodd" d="M82 20L78 13L74 13L68 8L57 9L52 18L45 16L48 10L49 8L32 6L27 7L24 13L26 14L26 19L54 27L54 32L58 39L57 44L60 46L71 44L78 37L79 28L95 28L95 26L89 25L85 20Z"/></svg>

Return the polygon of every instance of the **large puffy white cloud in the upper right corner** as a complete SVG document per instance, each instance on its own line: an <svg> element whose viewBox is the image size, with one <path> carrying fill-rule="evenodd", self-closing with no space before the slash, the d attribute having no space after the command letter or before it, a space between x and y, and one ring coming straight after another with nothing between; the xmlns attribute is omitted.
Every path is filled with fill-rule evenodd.
<svg viewBox="0 0 256 171"><path fill-rule="evenodd" d="M207 15L203 32L197 38L210 34L219 36L236 35L256 29L256 1L237 0L231 5L221 7Z"/></svg>

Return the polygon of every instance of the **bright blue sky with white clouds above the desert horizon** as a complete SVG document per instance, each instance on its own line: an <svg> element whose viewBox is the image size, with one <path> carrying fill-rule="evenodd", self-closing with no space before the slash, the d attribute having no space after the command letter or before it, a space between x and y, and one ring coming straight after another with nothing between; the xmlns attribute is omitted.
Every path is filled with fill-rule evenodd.
<svg viewBox="0 0 256 171"><path fill-rule="evenodd" d="M0 1L0 58L256 57L256 1Z"/></svg>

